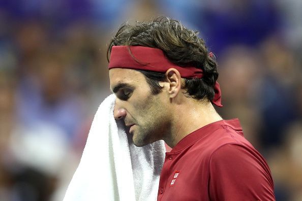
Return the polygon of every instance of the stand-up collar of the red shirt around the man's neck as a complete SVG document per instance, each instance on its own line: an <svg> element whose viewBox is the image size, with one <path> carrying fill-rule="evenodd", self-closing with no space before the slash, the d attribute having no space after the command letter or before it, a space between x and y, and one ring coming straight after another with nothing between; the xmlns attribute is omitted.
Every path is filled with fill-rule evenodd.
<svg viewBox="0 0 302 201"><path fill-rule="evenodd" d="M232 127L234 130L242 131L239 119L230 119L230 120L220 120L216 121L210 124L207 124L193 132L191 132L189 135L187 135L185 138L180 140L175 147L171 150L171 152L177 152L180 151L192 143L196 142L197 140L200 140L207 136L209 133L212 133L220 126L229 126ZM243 132L240 132L243 135Z"/></svg>

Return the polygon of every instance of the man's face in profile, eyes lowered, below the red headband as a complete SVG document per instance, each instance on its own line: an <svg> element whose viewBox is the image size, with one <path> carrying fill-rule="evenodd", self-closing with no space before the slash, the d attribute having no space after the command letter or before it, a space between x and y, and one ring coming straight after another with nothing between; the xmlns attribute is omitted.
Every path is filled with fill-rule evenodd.
<svg viewBox="0 0 302 201"><path fill-rule="evenodd" d="M110 87L117 99L115 110L124 110L133 142L141 147L163 139L170 129L168 95L153 95L142 73L131 69L111 69Z"/></svg>

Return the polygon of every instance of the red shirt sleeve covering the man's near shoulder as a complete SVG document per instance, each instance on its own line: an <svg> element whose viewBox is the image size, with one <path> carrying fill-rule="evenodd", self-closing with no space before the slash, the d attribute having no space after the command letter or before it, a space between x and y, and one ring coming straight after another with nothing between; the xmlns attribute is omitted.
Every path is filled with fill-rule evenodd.
<svg viewBox="0 0 302 201"><path fill-rule="evenodd" d="M254 148L241 144L225 144L213 152L209 188L218 200L274 200L273 179L264 158Z"/></svg>

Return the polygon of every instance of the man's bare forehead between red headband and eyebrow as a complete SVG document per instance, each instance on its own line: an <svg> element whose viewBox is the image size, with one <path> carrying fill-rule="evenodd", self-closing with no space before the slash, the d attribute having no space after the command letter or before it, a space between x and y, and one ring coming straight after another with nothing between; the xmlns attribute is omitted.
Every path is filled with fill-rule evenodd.
<svg viewBox="0 0 302 201"><path fill-rule="evenodd" d="M118 84L138 85L146 83L144 75L133 69L114 68L109 70L110 88Z"/></svg>

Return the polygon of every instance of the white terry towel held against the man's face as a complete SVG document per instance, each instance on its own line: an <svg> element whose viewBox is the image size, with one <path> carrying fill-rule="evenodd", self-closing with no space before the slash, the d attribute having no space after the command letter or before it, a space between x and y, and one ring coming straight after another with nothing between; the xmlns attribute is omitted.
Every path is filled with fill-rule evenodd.
<svg viewBox="0 0 302 201"><path fill-rule="evenodd" d="M115 95L100 105L80 164L64 201L156 200L165 145L136 147L122 121L115 121Z"/></svg>

